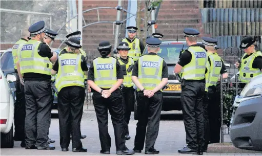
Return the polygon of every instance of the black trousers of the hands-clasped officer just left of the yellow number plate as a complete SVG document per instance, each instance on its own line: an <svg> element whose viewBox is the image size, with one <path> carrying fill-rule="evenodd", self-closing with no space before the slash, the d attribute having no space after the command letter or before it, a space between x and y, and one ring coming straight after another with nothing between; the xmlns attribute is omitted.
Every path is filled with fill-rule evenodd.
<svg viewBox="0 0 262 156"><path fill-rule="evenodd" d="M153 97L144 96L138 92L135 149L142 150L146 139L145 151L153 151L158 136L163 94L158 91Z"/></svg>

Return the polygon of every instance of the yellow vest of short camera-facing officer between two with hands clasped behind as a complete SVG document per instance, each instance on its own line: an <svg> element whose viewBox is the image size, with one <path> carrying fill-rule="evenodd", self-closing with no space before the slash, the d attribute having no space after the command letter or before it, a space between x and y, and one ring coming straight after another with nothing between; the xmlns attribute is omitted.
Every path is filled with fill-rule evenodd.
<svg viewBox="0 0 262 156"><path fill-rule="evenodd" d="M130 65L134 64L134 61L132 58L128 58L128 63L125 64L120 58L117 59L118 62L120 63L120 65L126 65L126 70L129 68ZM127 71L127 75L124 75L124 80L123 80L123 85L126 87L131 87L134 85L134 83L132 82L132 71L128 72Z"/></svg>

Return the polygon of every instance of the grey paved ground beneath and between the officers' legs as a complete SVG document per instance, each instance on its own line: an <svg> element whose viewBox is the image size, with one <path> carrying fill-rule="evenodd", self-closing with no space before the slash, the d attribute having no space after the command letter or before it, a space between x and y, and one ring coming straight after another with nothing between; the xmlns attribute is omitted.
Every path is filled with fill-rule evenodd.
<svg viewBox="0 0 262 156"><path fill-rule="evenodd" d="M179 154L178 149L182 148L186 144L186 133L184 122L182 116L179 113L178 115L164 115L160 121L158 138L155 143L155 148L160 150L158 155L192 155L192 154ZM57 117L57 116L54 116ZM135 137L135 128L137 121L133 118L133 113L131 115L129 123L129 132L131 139L126 141L126 145L129 149L134 147L134 137ZM14 142L14 148L2 148L1 155L101 155L99 154L100 150L100 141L98 136L98 125L96 120L96 115L94 112L94 107L92 104L84 105L84 114L81 122L81 131L82 135L87 135L86 139L82 139L83 147L87 148L87 152L72 152L72 146L70 143L69 151L61 151L59 145L59 127L58 119L51 119L51 126L49 131L49 137L54 139L56 142L53 144L55 150L37 150L31 149L26 150L25 148L20 147L20 141ZM114 141L114 131L112 122L109 115L108 123L109 134L111 136L111 155L115 155L115 141ZM230 142L229 135L226 135L224 138L225 142ZM135 153L135 155L145 155L144 150L142 153ZM239 150L237 151L239 152ZM204 155L262 155L262 153L204 153Z"/></svg>

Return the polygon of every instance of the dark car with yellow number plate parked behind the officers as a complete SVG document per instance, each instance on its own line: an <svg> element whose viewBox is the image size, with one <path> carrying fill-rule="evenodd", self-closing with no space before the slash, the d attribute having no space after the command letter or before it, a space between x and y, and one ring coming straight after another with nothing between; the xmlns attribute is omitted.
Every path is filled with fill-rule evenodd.
<svg viewBox="0 0 262 156"><path fill-rule="evenodd" d="M158 56L164 58L168 65L168 88L163 91L162 110L164 111L182 109L180 102L181 85L173 72L176 63L179 60L179 53L182 48L184 50L188 48L186 41L163 40L160 44L160 51L157 53ZM148 51L146 46L143 55L147 53Z"/></svg>

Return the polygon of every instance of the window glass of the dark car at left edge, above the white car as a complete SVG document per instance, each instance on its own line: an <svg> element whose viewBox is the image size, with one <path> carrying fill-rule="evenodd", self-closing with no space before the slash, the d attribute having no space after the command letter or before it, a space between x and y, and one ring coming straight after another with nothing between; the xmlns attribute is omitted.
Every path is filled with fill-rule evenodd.
<svg viewBox="0 0 262 156"><path fill-rule="evenodd" d="M14 61L11 52L6 52L1 57L1 69L3 72L14 70Z"/></svg>

